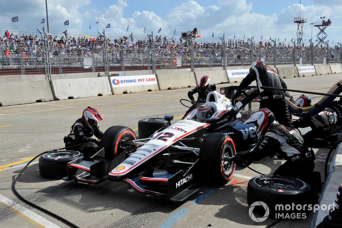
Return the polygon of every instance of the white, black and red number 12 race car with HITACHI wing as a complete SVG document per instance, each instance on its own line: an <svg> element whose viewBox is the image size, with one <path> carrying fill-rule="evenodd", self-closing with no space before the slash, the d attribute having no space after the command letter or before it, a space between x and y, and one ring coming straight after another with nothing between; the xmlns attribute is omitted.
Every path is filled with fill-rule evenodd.
<svg viewBox="0 0 342 228"><path fill-rule="evenodd" d="M235 164L224 156L235 156L237 144L250 147L257 141L254 124L234 118L256 96L251 93L232 105L213 86L205 104L172 125L173 116L166 115L168 125L148 138L137 139L132 129L112 126L92 157L83 159L73 151L45 154L39 160L40 173L58 178L58 169L65 181L125 182L139 193L184 201L209 182L226 184L232 179ZM210 116L203 115L209 110ZM54 162L65 157L70 159L60 161L53 171Z"/></svg>

